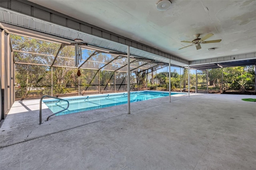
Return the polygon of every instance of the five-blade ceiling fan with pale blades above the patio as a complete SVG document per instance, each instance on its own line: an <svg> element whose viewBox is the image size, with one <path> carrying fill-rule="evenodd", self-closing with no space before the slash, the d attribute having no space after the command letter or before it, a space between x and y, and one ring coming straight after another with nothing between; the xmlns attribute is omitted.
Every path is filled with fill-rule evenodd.
<svg viewBox="0 0 256 170"><path fill-rule="evenodd" d="M186 43L193 43L192 45L196 45L196 49L201 49L201 45L200 43L216 43L216 42L221 42L221 40L211 40L211 41L204 41L208 38L210 38L211 36L213 36L213 34L207 34L206 36L204 36L204 38L199 38L200 34L196 34L194 35L194 40L192 40L192 42L189 41L181 41L181 42L186 42ZM186 47L189 47L191 45L188 45ZM182 48L186 48L186 47L182 47ZM180 49L182 49L180 48Z"/></svg>

